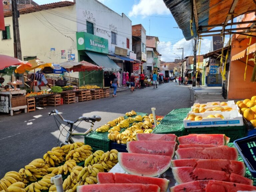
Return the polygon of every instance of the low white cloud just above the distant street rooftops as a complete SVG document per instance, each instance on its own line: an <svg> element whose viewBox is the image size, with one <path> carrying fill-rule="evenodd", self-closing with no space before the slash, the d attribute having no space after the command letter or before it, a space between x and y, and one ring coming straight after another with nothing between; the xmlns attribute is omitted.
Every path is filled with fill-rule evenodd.
<svg viewBox="0 0 256 192"><path fill-rule="evenodd" d="M174 44L171 43L170 41L169 42L160 41L157 49L158 49L158 52L162 55L161 56L162 61L172 62L175 59L177 59L175 57L179 56L180 58L182 58L182 49L177 49L177 48L183 47L184 57L193 55L193 44L194 44L194 41L192 40L186 41L185 38L179 40ZM211 40L203 39L201 42L200 55L208 53L210 51L210 47L211 47ZM198 47L198 51L199 51L199 47ZM198 51L197 51L197 55L198 55Z"/></svg>

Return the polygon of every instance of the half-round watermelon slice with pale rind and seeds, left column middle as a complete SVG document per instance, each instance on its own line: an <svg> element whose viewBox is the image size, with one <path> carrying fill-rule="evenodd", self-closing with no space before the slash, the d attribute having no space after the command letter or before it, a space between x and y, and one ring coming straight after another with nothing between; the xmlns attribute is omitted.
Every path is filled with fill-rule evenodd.
<svg viewBox="0 0 256 192"><path fill-rule="evenodd" d="M132 175L159 176L169 169L172 158L164 155L118 153L120 166Z"/></svg>

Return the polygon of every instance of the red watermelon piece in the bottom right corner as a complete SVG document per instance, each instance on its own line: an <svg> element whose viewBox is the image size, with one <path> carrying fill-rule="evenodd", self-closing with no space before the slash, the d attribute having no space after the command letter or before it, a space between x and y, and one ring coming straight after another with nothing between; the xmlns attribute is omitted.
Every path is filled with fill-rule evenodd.
<svg viewBox="0 0 256 192"><path fill-rule="evenodd" d="M214 180L209 181L206 185L206 192L237 192L239 190L255 191L256 187L251 185Z"/></svg>

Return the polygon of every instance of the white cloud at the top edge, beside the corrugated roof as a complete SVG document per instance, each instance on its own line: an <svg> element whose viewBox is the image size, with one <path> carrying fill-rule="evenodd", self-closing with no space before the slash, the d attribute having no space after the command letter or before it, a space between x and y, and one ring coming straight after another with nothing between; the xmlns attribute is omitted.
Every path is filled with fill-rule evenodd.
<svg viewBox="0 0 256 192"><path fill-rule="evenodd" d="M138 4L132 6L129 16L136 15L168 15L170 10L165 6L162 0L140 0Z"/></svg>

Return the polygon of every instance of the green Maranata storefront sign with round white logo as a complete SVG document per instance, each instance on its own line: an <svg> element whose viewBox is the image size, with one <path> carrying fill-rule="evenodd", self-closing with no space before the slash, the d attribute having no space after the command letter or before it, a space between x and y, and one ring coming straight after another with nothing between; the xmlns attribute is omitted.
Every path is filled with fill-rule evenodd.
<svg viewBox="0 0 256 192"><path fill-rule="evenodd" d="M108 40L86 32L76 33L77 50L108 54Z"/></svg>

